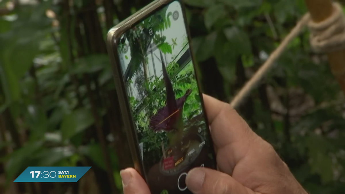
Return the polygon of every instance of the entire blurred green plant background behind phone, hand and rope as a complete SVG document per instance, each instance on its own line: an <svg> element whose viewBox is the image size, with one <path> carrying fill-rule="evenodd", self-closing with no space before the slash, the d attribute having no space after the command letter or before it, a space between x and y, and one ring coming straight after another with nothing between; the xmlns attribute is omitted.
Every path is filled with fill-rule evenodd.
<svg viewBox="0 0 345 194"><path fill-rule="evenodd" d="M0 192L121 193L132 166L105 47L151 0L0 0ZM229 101L307 11L303 0L185 0L201 85ZM304 31L238 109L311 193L345 189L345 101ZM78 183L12 183L92 166Z"/></svg>

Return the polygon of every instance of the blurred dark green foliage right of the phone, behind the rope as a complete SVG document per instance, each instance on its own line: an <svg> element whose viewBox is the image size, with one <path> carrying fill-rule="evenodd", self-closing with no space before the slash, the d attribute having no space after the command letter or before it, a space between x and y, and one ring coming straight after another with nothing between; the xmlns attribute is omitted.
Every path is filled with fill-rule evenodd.
<svg viewBox="0 0 345 194"><path fill-rule="evenodd" d="M231 99L243 87L307 12L303 0L185 2L196 7L188 10L194 18L189 24L197 35L193 37L196 59L205 69L203 88L210 95L224 94L227 98L222 100ZM345 188L341 181L345 163L339 154L345 147L341 143L344 98L327 61L312 52L308 41L309 33L303 31L289 44L264 79L264 89L255 90L239 112L274 145L309 192L337 193ZM223 80L217 89L207 85L210 66Z"/></svg>

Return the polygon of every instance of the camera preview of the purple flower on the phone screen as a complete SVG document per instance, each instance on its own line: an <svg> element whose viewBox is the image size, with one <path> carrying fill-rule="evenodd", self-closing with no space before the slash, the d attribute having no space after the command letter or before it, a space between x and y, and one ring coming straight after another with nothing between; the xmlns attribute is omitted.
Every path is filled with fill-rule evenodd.
<svg viewBox="0 0 345 194"><path fill-rule="evenodd" d="M119 54L144 166L178 172L206 144L206 123L178 2L120 38Z"/></svg>

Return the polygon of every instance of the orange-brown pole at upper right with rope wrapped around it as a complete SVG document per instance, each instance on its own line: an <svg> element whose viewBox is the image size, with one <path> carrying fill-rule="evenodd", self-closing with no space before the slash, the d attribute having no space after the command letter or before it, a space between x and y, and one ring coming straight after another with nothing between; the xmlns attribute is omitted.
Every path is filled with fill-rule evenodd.
<svg viewBox="0 0 345 194"><path fill-rule="evenodd" d="M333 12L332 0L305 0L314 22L321 22ZM345 94L345 50L328 53L331 70Z"/></svg>

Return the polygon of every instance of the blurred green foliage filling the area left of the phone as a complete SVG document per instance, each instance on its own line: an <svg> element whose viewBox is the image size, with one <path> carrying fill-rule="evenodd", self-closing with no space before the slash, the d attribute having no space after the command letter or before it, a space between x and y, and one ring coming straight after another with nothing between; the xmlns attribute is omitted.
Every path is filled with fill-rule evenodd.
<svg viewBox="0 0 345 194"><path fill-rule="evenodd" d="M82 164L108 171L83 76L89 76L91 96L98 103L98 95L114 91L109 58L105 48L103 52L89 53L99 48L95 49L84 33L79 37L75 34L76 21L68 18L64 9L48 0L20 4L0 17L0 120L5 120L5 125L0 125L0 168L5 171L6 190L28 166ZM57 17L48 18L48 10ZM56 19L60 24L57 27L52 25ZM93 40L100 43L102 36ZM85 45L76 45L76 38ZM88 53L82 56L77 48ZM109 107L96 106L96 115L103 119ZM110 174L114 173L121 191L118 158L109 142L106 146L114 171Z"/></svg>

